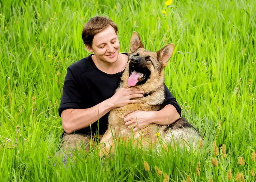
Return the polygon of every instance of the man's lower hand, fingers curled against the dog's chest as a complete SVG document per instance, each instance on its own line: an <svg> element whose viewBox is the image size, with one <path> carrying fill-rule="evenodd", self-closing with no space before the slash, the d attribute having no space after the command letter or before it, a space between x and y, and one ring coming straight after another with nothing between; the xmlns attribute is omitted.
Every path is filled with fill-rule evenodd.
<svg viewBox="0 0 256 182"><path fill-rule="evenodd" d="M155 117L154 111L135 111L124 118L125 126L133 128L133 132L146 128Z"/></svg>

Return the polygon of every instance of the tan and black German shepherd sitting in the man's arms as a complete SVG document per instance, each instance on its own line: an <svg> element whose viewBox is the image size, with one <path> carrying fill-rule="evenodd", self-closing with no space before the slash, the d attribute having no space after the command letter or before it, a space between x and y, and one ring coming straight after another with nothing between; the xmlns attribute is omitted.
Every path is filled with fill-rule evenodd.
<svg viewBox="0 0 256 182"><path fill-rule="evenodd" d="M157 111L163 107L165 100L164 68L172 57L174 44L167 44L157 52L150 52L144 49L140 36L135 31L130 41L127 66L121 77L120 86L137 87L144 91L144 97L138 99L137 103L127 104L123 107L114 108L109 113L108 129L100 140L105 143L99 155L107 156L110 148L114 149L114 139L121 139L125 142L132 136L132 130L124 124L124 117L133 111ZM158 136L159 133L159 136ZM114 137L114 138L113 138ZM193 147L202 139L199 132L188 123L185 118L179 118L168 126L149 124L146 128L133 133L137 141L142 141L142 146L155 145L159 139L166 145L179 143L183 145L192 141ZM140 140L142 139L142 140ZM120 141L120 140L119 140ZM185 143L184 143L185 141ZM111 153L114 151L111 149Z"/></svg>

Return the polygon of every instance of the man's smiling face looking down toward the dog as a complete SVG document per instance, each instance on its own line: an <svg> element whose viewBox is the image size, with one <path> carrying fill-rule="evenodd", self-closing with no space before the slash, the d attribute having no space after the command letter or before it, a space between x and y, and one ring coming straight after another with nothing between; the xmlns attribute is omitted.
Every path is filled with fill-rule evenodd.
<svg viewBox="0 0 256 182"><path fill-rule="evenodd" d="M88 49L88 47L87 47ZM94 52L98 60L114 63L118 58L120 44L114 28L109 25L103 31L94 35L90 52Z"/></svg>

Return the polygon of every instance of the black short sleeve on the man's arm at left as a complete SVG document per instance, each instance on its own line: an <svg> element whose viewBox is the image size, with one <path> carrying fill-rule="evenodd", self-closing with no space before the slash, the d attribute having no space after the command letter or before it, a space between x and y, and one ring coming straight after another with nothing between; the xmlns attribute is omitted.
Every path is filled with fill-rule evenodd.
<svg viewBox="0 0 256 182"><path fill-rule="evenodd" d="M71 69L68 67L67 75L65 76L63 94L61 96L60 107L58 109L61 117L62 111L66 109L79 109L82 105L82 94L78 86L78 80L74 76Z"/></svg>

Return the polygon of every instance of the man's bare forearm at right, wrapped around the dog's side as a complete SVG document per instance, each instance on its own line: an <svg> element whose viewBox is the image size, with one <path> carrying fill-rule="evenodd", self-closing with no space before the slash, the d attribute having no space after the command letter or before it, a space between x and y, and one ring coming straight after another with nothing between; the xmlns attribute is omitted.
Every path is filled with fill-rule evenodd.
<svg viewBox="0 0 256 182"><path fill-rule="evenodd" d="M168 104L159 111L153 111L154 118L151 120L151 123L157 123L161 125L167 125L174 123L177 119L180 118L176 108Z"/></svg>

